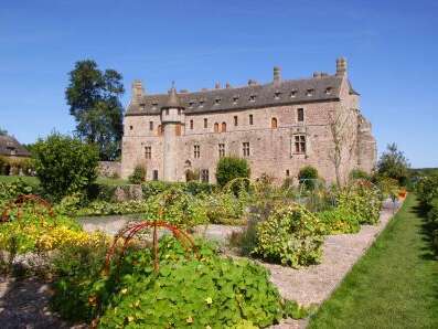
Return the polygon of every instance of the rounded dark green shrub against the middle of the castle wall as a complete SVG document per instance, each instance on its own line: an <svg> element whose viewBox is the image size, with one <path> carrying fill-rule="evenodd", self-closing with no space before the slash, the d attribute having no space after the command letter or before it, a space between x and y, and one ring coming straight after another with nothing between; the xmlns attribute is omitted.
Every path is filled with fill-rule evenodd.
<svg viewBox="0 0 438 329"><path fill-rule="evenodd" d="M220 187L236 178L249 178L250 169L245 159L223 157L217 162L216 181Z"/></svg>

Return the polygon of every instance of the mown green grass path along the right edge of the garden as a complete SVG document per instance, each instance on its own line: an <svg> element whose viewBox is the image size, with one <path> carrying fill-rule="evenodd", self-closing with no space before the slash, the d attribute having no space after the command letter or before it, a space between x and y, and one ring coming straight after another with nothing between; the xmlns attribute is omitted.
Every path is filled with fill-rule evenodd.
<svg viewBox="0 0 438 329"><path fill-rule="evenodd" d="M438 261L409 194L308 328L438 328Z"/></svg>

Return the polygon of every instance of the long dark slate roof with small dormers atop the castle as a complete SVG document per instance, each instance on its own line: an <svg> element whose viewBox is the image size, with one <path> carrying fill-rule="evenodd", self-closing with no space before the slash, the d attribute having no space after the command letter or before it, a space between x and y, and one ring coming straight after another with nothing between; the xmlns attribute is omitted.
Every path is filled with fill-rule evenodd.
<svg viewBox="0 0 438 329"><path fill-rule="evenodd" d="M303 79L286 79L244 87L215 88L179 93L185 114L226 112L276 105L338 100L342 76L322 75ZM354 93L353 88L350 88ZM145 95L139 104L131 103L126 115L160 114L168 105L169 94Z"/></svg>

